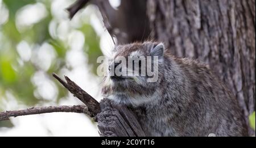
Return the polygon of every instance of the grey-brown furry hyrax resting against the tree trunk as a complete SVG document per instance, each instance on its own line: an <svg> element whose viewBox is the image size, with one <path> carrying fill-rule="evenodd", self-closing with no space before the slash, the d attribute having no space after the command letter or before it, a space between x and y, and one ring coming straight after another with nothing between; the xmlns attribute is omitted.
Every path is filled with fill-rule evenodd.
<svg viewBox="0 0 256 148"><path fill-rule="evenodd" d="M207 65L176 58L151 41L116 46L110 65L120 56L158 57L156 82L114 75L102 87L106 98L134 109L146 136L247 136L236 98Z"/></svg>

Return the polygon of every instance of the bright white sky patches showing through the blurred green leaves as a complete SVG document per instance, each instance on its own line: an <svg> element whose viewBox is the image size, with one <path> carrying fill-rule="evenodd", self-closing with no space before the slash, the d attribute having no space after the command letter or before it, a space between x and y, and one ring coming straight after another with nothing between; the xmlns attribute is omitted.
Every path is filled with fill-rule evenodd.
<svg viewBox="0 0 256 148"><path fill-rule="evenodd" d="M94 76L89 71L88 59L82 51L85 36L73 28L79 25L81 21L89 21L98 36L101 37L100 46L102 52L105 54L113 46L112 39L104 28L100 12L93 5L89 5L84 11L79 12L72 20L69 20L68 14L64 9L71 5L72 2L69 0L54 0L51 4L51 13L54 19L49 24L49 32L51 36L67 40L69 45L71 45L71 50L66 55L66 61L73 69L71 71L64 69L60 75L68 75L82 89L97 100L100 100L100 78ZM120 1L111 0L110 4L117 8ZM0 25L8 20L8 14L8 10L2 5L2 0L0 0ZM47 11L46 7L38 2L20 8L17 14L16 27L19 31L23 31L23 29L32 26L46 17ZM90 16L90 19L84 20L84 16L87 15ZM37 48L39 48L39 53L33 53L31 46L26 41L22 41L17 45L16 50L22 60L32 60L35 63L40 63L42 69L48 69L51 61L55 58L54 50L47 43ZM34 74L31 81L38 86L37 94L35 95L41 95L44 99L49 100L49 103L42 104L43 106L82 104L70 94L67 98L61 99L60 104L51 103L51 101L54 102L54 99L56 99L56 85L59 85L59 83L43 73L43 71L38 71ZM27 108L22 103L17 102L11 94L7 95L3 104L5 104L6 110ZM30 115L11 118L11 121L15 125L14 128L0 128L0 136L98 136L97 125L95 123L93 124L86 115L78 113Z"/></svg>

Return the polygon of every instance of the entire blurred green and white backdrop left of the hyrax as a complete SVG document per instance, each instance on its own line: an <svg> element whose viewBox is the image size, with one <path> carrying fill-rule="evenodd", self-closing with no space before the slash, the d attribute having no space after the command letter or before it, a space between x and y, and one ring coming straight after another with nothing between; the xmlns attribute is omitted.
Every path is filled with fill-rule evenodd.
<svg viewBox="0 0 256 148"><path fill-rule="evenodd" d="M52 78L67 75L97 100L98 56L113 41L98 8L88 5L72 20L73 0L0 0L0 111L82 104ZM118 7L118 0L110 1ZM0 136L98 136L97 125L77 113L47 113L0 122Z"/></svg>

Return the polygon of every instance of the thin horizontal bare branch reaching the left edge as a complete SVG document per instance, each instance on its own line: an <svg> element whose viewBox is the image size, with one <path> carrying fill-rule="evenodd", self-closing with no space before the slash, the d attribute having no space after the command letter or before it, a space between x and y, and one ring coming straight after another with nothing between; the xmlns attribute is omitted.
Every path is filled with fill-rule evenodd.
<svg viewBox="0 0 256 148"><path fill-rule="evenodd" d="M75 112L75 113L86 113L88 114L88 108L85 105L73 105L73 106L49 106L49 107L32 107L27 109L22 109L18 111L5 111L0 112L0 121L9 120L9 117L18 117L24 115L35 115L41 113L51 113L51 112Z"/></svg>

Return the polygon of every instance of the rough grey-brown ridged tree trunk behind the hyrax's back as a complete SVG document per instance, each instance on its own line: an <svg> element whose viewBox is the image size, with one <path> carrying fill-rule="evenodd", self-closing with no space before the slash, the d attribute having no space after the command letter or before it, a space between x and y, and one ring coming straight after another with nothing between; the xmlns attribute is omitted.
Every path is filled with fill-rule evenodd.
<svg viewBox="0 0 256 148"><path fill-rule="evenodd" d="M147 8L154 38L209 64L247 121L255 110L255 0L148 0Z"/></svg>

